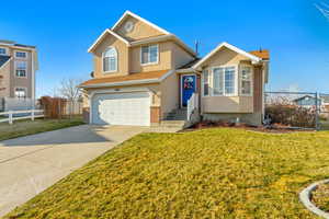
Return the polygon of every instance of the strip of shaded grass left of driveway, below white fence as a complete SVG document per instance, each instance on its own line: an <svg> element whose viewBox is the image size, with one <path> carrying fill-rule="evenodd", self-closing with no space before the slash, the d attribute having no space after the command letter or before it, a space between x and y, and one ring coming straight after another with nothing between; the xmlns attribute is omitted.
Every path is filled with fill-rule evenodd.
<svg viewBox="0 0 329 219"><path fill-rule="evenodd" d="M70 126L78 126L83 124L81 117L73 117L70 119L35 119L34 122L14 120L12 125L8 123L0 123L0 140L18 138L22 136L67 128Z"/></svg>

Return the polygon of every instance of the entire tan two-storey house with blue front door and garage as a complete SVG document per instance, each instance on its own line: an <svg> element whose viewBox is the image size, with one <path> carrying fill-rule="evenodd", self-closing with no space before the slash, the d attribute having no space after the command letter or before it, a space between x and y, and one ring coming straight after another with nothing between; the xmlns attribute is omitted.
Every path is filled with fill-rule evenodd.
<svg viewBox="0 0 329 219"><path fill-rule="evenodd" d="M262 123L268 50L222 43L198 58L175 35L126 11L88 51L93 79L80 87L91 124L149 126L196 113Z"/></svg>

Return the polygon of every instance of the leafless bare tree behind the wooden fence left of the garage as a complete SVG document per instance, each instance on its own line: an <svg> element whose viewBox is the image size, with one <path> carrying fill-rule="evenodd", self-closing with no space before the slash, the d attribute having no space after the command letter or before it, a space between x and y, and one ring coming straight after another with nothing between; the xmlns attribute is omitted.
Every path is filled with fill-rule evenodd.
<svg viewBox="0 0 329 219"><path fill-rule="evenodd" d="M75 104L81 97L81 90L79 88L80 83L81 80L78 79L64 79L60 82L59 92L63 97L68 100L70 117L75 110Z"/></svg>

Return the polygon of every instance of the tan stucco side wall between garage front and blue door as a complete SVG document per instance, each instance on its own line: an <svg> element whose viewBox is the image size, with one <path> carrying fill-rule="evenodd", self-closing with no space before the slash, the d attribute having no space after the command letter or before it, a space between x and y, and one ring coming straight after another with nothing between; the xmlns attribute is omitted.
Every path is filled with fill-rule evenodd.
<svg viewBox="0 0 329 219"><path fill-rule="evenodd" d="M172 73L160 84L162 116L179 107L179 76Z"/></svg>

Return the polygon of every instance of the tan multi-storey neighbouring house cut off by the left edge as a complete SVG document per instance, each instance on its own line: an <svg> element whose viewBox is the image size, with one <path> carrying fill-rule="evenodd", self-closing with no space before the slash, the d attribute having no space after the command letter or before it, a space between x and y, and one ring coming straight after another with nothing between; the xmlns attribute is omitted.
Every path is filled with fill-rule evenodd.
<svg viewBox="0 0 329 219"><path fill-rule="evenodd" d="M0 41L0 99L35 99L35 46Z"/></svg>

